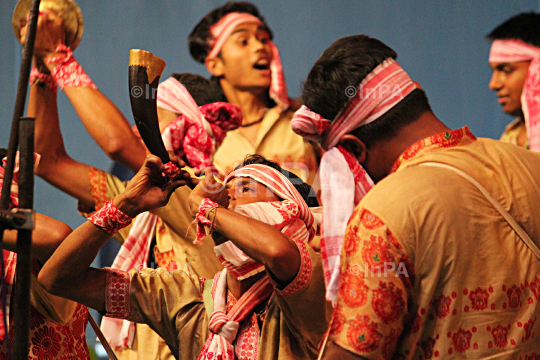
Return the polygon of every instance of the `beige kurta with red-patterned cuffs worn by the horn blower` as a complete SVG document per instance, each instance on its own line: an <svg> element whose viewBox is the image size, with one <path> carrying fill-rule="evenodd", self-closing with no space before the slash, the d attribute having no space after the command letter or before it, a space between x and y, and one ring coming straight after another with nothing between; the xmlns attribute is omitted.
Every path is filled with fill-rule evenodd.
<svg viewBox="0 0 540 360"><path fill-rule="evenodd" d="M296 278L270 298L262 316L259 360L315 359L328 325L330 306L324 298L320 255L305 243L297 245L302 265ZM166 269L108 271L106 309L110 316L149 324L178 346L180 359L198 357L209 334L204 279ZM126 301L114 301L113 296L118 295L126 295Z"/></svg>

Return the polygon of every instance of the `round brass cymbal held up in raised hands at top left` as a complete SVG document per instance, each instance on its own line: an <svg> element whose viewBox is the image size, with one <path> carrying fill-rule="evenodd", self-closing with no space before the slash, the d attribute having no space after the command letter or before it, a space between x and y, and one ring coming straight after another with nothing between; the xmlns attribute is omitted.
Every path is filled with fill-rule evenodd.
<svg viewBox="0 0 540 360"><path fill-rule="evenodd" d="M21 41L21 29L26 25L32 0L19 0L13 11L12 25L15 37ZM73 0L42 0L40 11L52 10L64 20L66 45L75 50L82 39L84 21L81 9Z"/></svg>

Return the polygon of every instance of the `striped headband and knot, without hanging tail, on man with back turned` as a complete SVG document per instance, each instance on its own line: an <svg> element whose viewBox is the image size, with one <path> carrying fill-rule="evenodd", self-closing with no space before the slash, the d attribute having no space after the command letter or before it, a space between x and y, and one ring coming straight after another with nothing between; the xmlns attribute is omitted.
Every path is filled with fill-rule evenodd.
<svg viewBox="0 0 540 360"><path fill-rule="evenodd" d="M394 59L388 58L366 76L358 87L343 89L354 96L334 121L302 106L294 114L291 126L295 133L320 141L323 149L329 150L338 144L343 135L377 120L416 88L416 83L401 66Z"/></svg>

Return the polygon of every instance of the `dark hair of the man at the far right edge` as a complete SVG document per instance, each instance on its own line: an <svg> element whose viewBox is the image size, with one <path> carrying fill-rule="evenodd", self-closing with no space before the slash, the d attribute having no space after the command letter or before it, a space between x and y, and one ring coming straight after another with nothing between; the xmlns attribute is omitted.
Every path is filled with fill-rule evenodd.
<svg viewBox="0 0 540 360"><path fill-rule="evenodd" d="M540 14L521 13L497 26L487 38L493 40L516 39L540 47Z"/></svg>

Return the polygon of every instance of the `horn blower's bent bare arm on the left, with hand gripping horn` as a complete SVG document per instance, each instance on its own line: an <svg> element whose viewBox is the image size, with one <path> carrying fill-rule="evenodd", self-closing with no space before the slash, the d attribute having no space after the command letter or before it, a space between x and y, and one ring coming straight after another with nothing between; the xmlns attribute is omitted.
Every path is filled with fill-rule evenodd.
<svg viewBox="0 0 540 360"><path fill-rule="evenodd" d="M173 154L171 160L181 166ZM178 187L186 185L184 177L167 181L164 166L156 156L148 156L129 182L126 190L113 199L125 214L136 215L164 206ZM189 177L183 173L182 176ZM106 271L90 264L111 234L87 221L75 229L45 263L38 281L52 294L77 301L99 311L105 310Z"/></svg>

